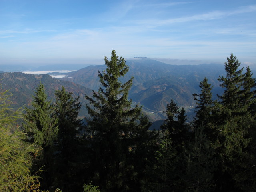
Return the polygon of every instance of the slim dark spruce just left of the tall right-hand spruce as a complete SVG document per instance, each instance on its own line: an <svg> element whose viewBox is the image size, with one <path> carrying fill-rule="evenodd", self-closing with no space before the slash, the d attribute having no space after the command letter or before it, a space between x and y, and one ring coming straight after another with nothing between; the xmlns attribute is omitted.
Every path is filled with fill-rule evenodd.
<svg viewBox="0 0 256 192"><path fill-rule="evenodd" d="M213 106L212 86L208 83L208 79L205 77L204 80L200 82L199 87L201 88L201 93L193 94L194 100L196 101L196 116L194 117L193 126L194 128L204 126L206 132L208 132Z"/></svg>

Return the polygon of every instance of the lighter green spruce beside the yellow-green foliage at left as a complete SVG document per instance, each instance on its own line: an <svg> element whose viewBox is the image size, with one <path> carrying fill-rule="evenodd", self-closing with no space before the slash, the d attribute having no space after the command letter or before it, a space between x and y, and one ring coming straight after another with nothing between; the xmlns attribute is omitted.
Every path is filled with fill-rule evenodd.
<svg viewBox="0 0 256 192"><path fill-rule="evenodd" d="M41 184L43 187L51 185L51 172L54 154L54 144L58 134L58 119L53 118L53 108L47 100L44 85L36 88L32 108L26 108L23 127L27 133L27 141L35 143L42 150L38 153L35 170L43 168Z"/></svg>

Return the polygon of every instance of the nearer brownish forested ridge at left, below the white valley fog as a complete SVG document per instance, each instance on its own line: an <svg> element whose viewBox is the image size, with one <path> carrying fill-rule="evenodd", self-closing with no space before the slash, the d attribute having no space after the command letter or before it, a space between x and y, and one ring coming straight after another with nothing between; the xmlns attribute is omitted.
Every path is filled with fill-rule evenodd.
<svg viewBox="0 0 256 192"><path fill-rule="evenodd" d="M82 104L80 116L87 114L85 105L89 104L87 100L84 99L84 94L92 95L92 90L84 86L75 84L73 82L62 81L56 78L52 78L47 74L32 75L24 74L21 72L14 73L2 73L0 74L0 84L4 90L10 90L13 96L10 98L14 102L14 108L25 105L29 107L32 101L32 95L41 82L44 84L46 89L46 94L49 99L54 101L55 90L60 90L62 86L68 92L73 92L74 97L80 96L80 102Z"/></svg>

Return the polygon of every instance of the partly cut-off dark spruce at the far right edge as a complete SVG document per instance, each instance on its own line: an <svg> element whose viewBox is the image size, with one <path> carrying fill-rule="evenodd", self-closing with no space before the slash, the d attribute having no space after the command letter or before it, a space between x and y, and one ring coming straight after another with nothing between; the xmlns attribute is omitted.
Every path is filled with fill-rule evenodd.
<svg viewBox="0 0 256 192"><path fill-rule="evenodd" d="M246 152L242 158L242 166L237 174L237 185L244 191L256 190L256 82L252 78L252 72L247 66L243 80L243 94L241 103L243 105L243 127L246 128L244 138L249 138L248 146L243 149ZM246 163L244 163L246 162Z"/></svg>

